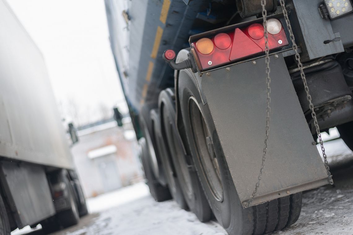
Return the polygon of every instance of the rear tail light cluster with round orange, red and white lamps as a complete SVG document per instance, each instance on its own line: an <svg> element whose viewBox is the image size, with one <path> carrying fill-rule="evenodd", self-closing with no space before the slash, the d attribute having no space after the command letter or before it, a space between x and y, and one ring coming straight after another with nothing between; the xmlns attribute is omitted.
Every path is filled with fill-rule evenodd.
<svg viewBox="0 0 353 235"><path fill-rule="evenodd" d="M269 19L267 30L270 50L289 44L279 20ZM213 38L201 38L192 42L191 46L196 49L202 70L213 68L264 52L264 27L262 24L252 24L243 29L219 33Z"/></svg>

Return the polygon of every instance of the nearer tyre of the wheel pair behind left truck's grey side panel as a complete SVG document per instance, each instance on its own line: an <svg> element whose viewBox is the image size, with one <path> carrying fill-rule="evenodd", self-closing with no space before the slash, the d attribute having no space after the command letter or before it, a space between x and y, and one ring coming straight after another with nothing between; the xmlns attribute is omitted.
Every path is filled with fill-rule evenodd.
<svg viewBox="0 0 353 235"><path fill-rule="evenodd" d="M65 184L68 187L68 200L70 202L71 208L65 211L58 212L58 214L56 214L56 217L58 218L59 224L62 227L67 228L72 225L78 224L80 216L74 197L73 188L67 178L65 178Z"/></svg>

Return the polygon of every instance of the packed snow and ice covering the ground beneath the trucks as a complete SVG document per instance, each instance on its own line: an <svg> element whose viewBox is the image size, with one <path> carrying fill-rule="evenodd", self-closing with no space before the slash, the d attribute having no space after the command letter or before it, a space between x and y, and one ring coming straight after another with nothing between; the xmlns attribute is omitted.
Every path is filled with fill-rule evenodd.
<svg viewBox="0 0 353 235"><path fill-rule="evenodd" d="M341 140L326 146L331 155L329 162L335 184L304 192L297 223L275 234L353 234L353 155ZM216 221L201 223L173 200L155 202L143 183L89 199L88 204L91 215L83 218L79 225L53 235L226 234ZM40 234L40 231L32 234Z"/></svg>

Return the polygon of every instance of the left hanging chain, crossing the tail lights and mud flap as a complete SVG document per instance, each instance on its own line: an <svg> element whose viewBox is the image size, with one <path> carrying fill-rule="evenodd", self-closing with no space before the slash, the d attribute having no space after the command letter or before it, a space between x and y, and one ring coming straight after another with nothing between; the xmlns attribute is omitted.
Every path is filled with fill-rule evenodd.
<svg viewBox="0 0 353 235"><path fill-rule="evenodd" d="M271 83L271 78L270 78L270 56L269 56L270 49L268 47L268 31L267 31L267 10L265 8L266 0L261 0L261 6L262 6L262 17L263 17L263 26L264 26L264 35L265 35L265 63L266 63L266 75L267 75L266 76L266 84L267 84L266 130L265 130L265 142L264 142L264 148L263 148L260 173L257 178L255 190L252 192L251 197L250 197L249 201L246 203L245 207L249 207L250 203L254 199L255 194L260 186L262 172L265 167L268 134L269 134L269 130L270 130L270 93L271 93L270 83Z"/></svg>

